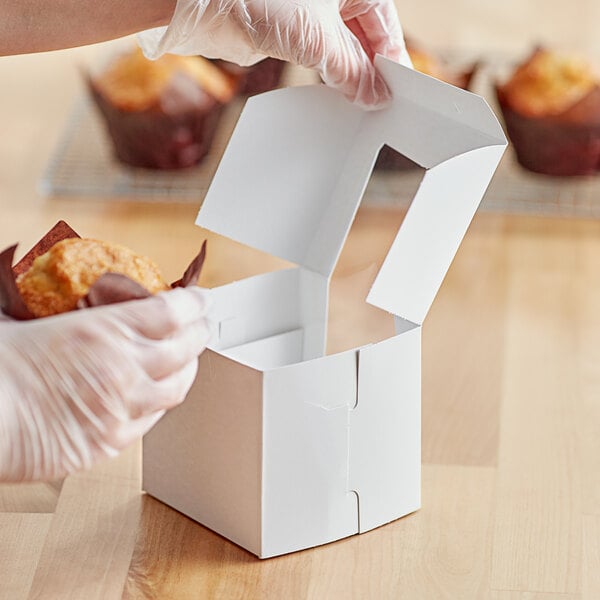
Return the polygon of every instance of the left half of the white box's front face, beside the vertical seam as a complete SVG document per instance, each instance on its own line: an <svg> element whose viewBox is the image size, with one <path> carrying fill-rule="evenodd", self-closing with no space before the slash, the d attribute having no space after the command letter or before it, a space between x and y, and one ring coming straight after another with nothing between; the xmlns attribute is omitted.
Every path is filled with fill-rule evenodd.
<svg viewBox="0 0 600 600"><path fill-rule="evenodd" d="M358 532L348 492L356 352L265 373L263 557Z"/></svg>

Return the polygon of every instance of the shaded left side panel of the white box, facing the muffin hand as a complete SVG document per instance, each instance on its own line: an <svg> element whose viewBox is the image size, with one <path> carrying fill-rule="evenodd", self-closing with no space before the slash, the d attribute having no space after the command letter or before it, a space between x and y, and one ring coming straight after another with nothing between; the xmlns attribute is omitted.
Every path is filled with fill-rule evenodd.
<svg viewBox="0 0 600 600"><path fill-rule="evenodd" d="M186 400L144 437L143 486L260 554L262 373L206 350Z"/></svg>

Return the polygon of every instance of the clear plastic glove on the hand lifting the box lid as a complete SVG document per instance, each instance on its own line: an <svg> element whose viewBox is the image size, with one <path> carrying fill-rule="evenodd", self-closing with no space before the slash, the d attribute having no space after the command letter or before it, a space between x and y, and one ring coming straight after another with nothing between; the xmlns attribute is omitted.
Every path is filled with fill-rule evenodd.
<svg viewBox="0 0 600 600"><path fill-rule="evenodd" d="M139 41L149 58L202 54L240 65L280 58L316 69L364 108L389 99L375 54L410 65L393 0L178 0L169 26Z"/></svg>

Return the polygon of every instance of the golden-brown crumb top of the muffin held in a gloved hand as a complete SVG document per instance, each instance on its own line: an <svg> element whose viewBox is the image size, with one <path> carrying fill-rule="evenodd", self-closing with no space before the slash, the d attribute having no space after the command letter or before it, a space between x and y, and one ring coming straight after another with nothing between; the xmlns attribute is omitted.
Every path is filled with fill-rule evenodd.
<svg viewBox="0 0 600 600"><path fill-rule="evenodd" d="M118 244L84 238L63 240L38 256L17 286L30 312L47 317L74 310L104 273L126 275L152 294L169 289L149 258Z"/></svg>

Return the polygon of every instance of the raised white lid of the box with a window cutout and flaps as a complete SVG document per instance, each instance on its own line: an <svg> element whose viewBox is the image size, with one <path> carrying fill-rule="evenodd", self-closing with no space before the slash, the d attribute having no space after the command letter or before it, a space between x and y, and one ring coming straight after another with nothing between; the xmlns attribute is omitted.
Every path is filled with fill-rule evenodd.
<svg viewBox="0 0 600 600"><path fill-rule="evenodd" d="M196 223L330 277L387 144L427 171L367 301L420 324L506 138L479 96L375 64L393 97L382 110L323 85L250 98Z"/></svg>

